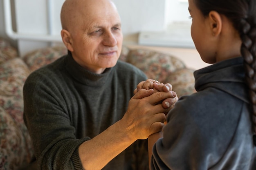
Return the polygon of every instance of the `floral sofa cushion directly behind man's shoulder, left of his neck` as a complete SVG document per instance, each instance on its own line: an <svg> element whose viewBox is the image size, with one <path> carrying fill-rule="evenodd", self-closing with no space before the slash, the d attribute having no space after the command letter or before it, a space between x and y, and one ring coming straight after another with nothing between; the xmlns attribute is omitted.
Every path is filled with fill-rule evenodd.
<svg viewBox="0 0 256 170"><path fill-rule="evenodd" d="M34 50L23 57L23 60L31 71L54 62L58 58L67 54L67 48L64 46L54 46Z"/></svg>

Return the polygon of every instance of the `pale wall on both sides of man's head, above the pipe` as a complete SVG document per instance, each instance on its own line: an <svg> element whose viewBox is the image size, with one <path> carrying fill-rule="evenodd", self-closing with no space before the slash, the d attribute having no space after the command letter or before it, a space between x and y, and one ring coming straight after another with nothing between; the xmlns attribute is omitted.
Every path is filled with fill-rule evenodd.
<svg viewBox="0 0 256 170"><path fill-rule="evenodd" d="M53 33L61 30L60 11L64 0L53 2ZM113 0L119 11L124 35L138 31L159 31L164 26L164 0ZM47 0L16 0L17 30L47 33Z"/></svg>

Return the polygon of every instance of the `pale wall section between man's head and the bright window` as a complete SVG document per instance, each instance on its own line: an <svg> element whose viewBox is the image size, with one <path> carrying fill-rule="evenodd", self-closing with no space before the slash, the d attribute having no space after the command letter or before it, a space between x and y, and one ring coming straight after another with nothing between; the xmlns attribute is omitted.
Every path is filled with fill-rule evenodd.
<svg viewBox="0 0 256 170"><path fill-rule="evenodd" d="M124 35L164 29L165 0L113 0L120 14Z"/></svg>

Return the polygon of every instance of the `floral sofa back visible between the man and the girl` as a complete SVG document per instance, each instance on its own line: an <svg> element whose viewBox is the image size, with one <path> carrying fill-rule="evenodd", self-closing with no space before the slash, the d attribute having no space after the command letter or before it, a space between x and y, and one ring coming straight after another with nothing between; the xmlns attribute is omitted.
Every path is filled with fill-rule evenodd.
<svg viewBox="0 0 256 170"><path fill-rule="evenodd" d="M149 79L170 83L173 91L180 97L194 93L193 70L186 68L184 62L169 54L146 49L132 49L127 62L137 66Z"/></svg>

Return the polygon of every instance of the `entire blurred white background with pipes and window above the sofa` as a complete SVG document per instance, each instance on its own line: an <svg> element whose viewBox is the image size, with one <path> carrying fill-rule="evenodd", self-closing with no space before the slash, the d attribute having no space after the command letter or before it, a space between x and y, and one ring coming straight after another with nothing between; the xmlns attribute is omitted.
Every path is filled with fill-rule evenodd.
<svg viewBox="0 0 256 170"><path fill-rule="evenodd" d="M33 49L62 44L60 11L64 1L0 0L0 37L9 40L20 56ZM204 64L191 39L188 0L113 2L121 17L124 45L174 55L175 51L182 52L179 55L188 64L195 60L195 64Z"/></svg>

